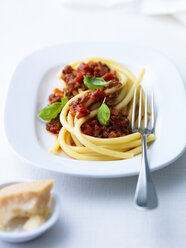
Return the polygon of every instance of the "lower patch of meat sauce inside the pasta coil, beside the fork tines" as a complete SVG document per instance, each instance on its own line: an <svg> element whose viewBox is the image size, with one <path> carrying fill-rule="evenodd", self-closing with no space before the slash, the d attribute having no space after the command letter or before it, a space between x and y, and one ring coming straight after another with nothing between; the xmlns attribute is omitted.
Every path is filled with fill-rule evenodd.
<svg viewBox="0 0 186 248"><path fill-rule="evenodd" d="M115 138L131 133L130 121L127 115L122 114L117 109L110 109L110 114L108 126L99 124L95 117L81 126L82 132L97 138Z"/></svg>

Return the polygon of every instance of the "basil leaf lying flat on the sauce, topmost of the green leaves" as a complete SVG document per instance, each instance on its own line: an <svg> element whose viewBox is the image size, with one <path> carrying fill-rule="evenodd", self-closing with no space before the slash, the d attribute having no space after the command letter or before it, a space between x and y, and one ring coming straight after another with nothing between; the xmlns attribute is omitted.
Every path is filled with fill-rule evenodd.
<svg viewBox="0 0 186 248"><path fill-rule="evenodd" d="M83 82L89 89L97 90L104 87L110 81L106 82L103 78L99 77L87 78L86 76L83 76Z"/></svg>

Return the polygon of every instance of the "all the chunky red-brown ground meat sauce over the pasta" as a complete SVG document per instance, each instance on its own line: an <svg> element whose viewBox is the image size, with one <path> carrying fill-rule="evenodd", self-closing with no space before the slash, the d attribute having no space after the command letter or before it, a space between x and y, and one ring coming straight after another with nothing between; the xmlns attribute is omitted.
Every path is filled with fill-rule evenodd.
<svg viewBox="0 0 186 248"><path fill-rule="evenodd" d="M94 102L100 103L105 97L104 90L110 89L112 87L120 87L121 83L119 82L118 77L116 76L116 71L111 70L106 64L102 62L92 62L81 63L77 69L73 69L70 65L67 65L62 70L62 79L66 83L66 88L63 91L55 89L48 100L49 104L55 102L60 102L61 98L66 93L68 99L71 99L73 96L78 94L78 89L87 90L88 88L83 82L83 76L86 77L102 77L105 81L110 81L104 88L98 90L92 90L85 96L80 99L75 100L70 104L70 112L72 116L76 116L77 119L80 119L90 113L90 110L85 107L85 104L89 99L92 99ZM113 93L107 95L105 103L111 108L114 102L114 99L117 97L118 93ZM59 120L59 115L57 118L49 121L46 124L46 130L58 134L62 125ZM117 110L111 109L111 117L109 126L105 127L99 124L97 119L92 119L91 121L84 123L82 125L82 131L85 134L94 136L94 137L120 137L130 133L130 122L125 115L122 115Z"/></svg>

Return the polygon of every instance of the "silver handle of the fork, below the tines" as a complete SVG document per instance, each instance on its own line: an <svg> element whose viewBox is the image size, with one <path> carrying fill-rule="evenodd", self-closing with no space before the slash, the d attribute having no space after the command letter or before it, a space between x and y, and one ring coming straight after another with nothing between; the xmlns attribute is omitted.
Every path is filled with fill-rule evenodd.
<svg viewBox="0 0 186 248"><path fill-rule="evenodd" d="M154 183L150 174L147 159L147 135L142 135L142 165L138 177L135 202L139 207L153 209L158 206Z"/></svg>

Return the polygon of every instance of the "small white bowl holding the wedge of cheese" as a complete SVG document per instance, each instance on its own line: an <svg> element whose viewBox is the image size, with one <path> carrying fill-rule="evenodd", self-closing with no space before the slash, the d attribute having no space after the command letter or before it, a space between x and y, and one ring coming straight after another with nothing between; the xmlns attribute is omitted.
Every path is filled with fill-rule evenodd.
<svg viewBox="0 0 186 248"><path fill-rule="evenodd" d="M3 184L0 184L0 188L3 188L10 184L20 183L20 182L23 182L23 181L21 180L19 182L6 182ZM52 196L54 199L52 213L45 223L43 223L40 227L32 231L20 231L20 232L0 231L0 239L2 241L6 241L9 243L23 243L23 242L27 242L27 241L33 240L41 236L44 232L46 232L49 228L51 228L59 218L60 205L61 205L59 197L54 193L52 193Z"/></svg>

